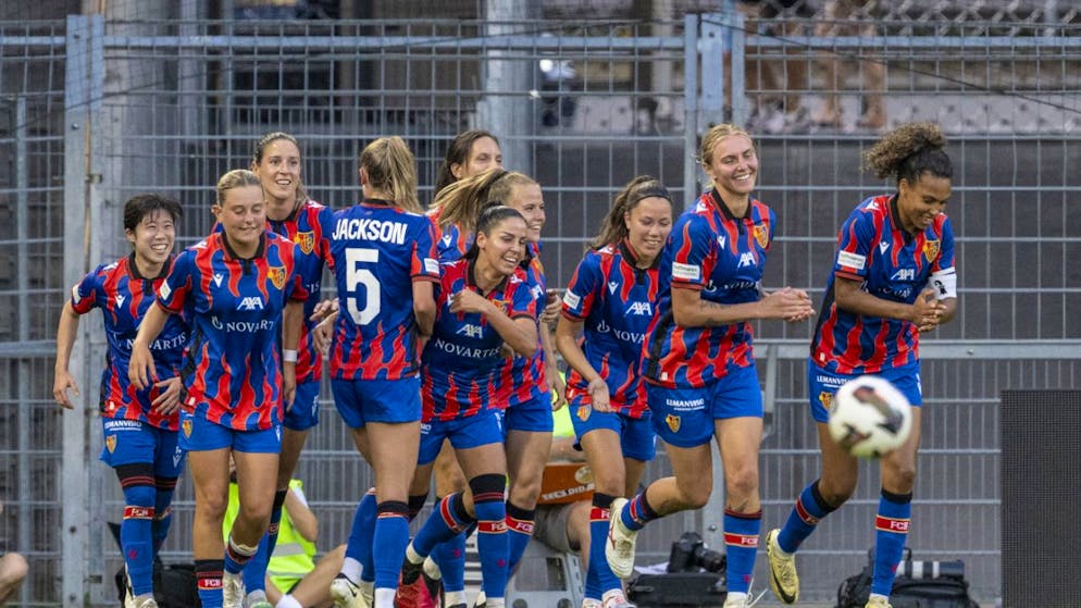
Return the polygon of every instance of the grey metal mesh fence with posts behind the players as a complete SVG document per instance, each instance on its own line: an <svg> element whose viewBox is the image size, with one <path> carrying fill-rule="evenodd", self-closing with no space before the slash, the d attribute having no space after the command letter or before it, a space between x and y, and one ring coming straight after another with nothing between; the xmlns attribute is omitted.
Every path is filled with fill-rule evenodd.
<svg viewBox="0 0 1081 608"><path fill-rule="evenodd" d="M799 94L809 112L836 92L845 122L805 129L782 119L781 128L755 129L759 197L781 221L770 286L820 297L840 222L887 188L858 170L877 137L855 124L860 95L884 94L891 123L937 120L952 137L961 309L924 349L932 405L910 545L965 559L977 595L1001 596L998 390L1076 388L1081 377L1081 271L1070 263L1081 253L1081 214L1069 206L1079 189L1069 167L1081 154L1081 32L1015 24L1020 35L968 36L956 23L874 24L869 34L816 36L806 21L758 29L734 12L656 23L0 23L0 548L30 558L18 604L114 597L120 559L104 522L120 512L121 494L96 462L97 418L61 415L52 404L49 364L66 287L124 253L120 209L131 195L182 200L189 244L210 225L216 177L246 166L268 131L295 134L310 190L344 207L359 197L356 157L371 138L407 139L430 198L447 141L486 127L500 136L506 164L542 183L545 262L550 282L566 285L628 179L658 175L689 201L700 179L688 162L697 136L710 122L769 109L775 95L746 76L787 74L796 63L804 80L783 92ZM841 71L849 76L866 70L852 65L884 64L883 90L827 78L821 64L831 57L849 62ZM562 76L546 78L542 62L562 66ZM96 315L83 322L72 362L91 409L99 325ZM804 408L808 333L759 327L774 405L761 463L767 525L782 521L817 470ZM325 422L298 476L330 548L345 539L370 474L323 395ZM647 475L668 470L661 455ZM855 506L831 517L802 554L811 600L833 592L838 572L857 571L871 542L877 475L867 473ZM181 484L166 560L184 559L189 546L189 485ZM713 534L716 524L687 513L651 526L641 562L662 561L683 530Z"/></svg>

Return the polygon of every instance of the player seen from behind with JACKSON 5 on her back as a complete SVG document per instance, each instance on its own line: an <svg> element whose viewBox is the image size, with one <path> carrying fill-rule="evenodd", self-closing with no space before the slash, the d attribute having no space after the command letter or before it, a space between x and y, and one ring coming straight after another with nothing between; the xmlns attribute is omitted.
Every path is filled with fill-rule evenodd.
<svg viewBox="0 0 1081 608"><path fill-rule="evenodd" d="M360 154L364 199L323 226L332 238L339 314L331 349L332 389L358 450L375 470L374 601L389 608L409 542L409 482L420 444L418 339L432 334L439 280L435 228L417 200L413 153L400 137L384 137ZM369 501L371 499L368 499ZM358 604L369 525L358 506L341 573L331 586L338 605Z"/></svg>

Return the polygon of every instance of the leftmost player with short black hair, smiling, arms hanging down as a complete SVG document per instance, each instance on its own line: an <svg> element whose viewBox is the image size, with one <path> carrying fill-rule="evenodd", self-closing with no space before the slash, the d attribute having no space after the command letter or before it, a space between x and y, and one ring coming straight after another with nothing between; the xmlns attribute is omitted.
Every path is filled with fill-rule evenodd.
<svg viewBox="0 0 1081 608"><path fill-rule="evenodd" d="M78 385L67 371L79 317L100 308L109 340L107 365L101 373L101 425L105 449L101 460L116 471L124 489L121 548L127 567L125 606L157 607L153 598L153 558L169 534L170 504L184 467L177 446L177 372L190 328L182 315L171 315L158 339L150 344L161 374L152 387L138 390L127 380L131 343L139 322L154 301L173 265L173 244L181 203L158 195L139 195L124 203L124 234L132 253L100 265L72 289L60 313L57 330L57 379L52 394L61 406L73 409L67 389Z"/></svg>

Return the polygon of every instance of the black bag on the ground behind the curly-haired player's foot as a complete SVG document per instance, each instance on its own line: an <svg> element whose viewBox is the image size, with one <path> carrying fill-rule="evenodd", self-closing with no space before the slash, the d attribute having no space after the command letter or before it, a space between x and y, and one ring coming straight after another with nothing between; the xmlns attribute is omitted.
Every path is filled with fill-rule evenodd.
<svg viewBox="0 0 1081 608"><path fill-rule="evenodd" d="M874 549L868 551L863 571L849 576L837 587L836 608L863 608L871 595L874 573ZM968 595L965 563L954 561L914 561L912 551L905 548L905 559L890 592L893 608L980 608Z"/></svg>

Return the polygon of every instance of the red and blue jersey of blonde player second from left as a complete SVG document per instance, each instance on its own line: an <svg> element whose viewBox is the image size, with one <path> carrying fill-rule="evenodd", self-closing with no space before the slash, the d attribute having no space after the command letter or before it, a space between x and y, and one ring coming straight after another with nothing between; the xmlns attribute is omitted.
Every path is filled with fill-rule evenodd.
<svg viewBox="0 0 1081 608"><path fill-rule="evenodd" d="M218 233L176 258L158 302L191 322L181 377L195 415L235 431L281 424L282 311L308 297L294 251L268 231L244 259Z"/></svg>

